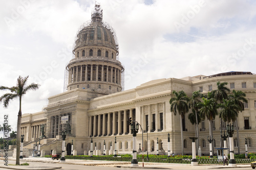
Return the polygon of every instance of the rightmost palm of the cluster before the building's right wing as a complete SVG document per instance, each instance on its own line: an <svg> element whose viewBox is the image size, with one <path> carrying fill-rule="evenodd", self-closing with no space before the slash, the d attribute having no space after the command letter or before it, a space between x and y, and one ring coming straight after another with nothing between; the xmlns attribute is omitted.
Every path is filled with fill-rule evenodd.
<svg viewBox="0 0 256 170"><path fill-rule="evenodd" d="M238 90L238 91L233 90L232 92L233 92L233 94L230 94L228 96L228 99L232 100L234 102L234 104L238 106L239 109L237 110L237 112L239 112L239 111L242 112L244 110L243 102L248 103L247 99L245 99L246 94L241 90ZM238 126L238 117L236 118L236 125ZM237 127L238 154L240 154L239 129L238 128L239 127Z"/></svg>

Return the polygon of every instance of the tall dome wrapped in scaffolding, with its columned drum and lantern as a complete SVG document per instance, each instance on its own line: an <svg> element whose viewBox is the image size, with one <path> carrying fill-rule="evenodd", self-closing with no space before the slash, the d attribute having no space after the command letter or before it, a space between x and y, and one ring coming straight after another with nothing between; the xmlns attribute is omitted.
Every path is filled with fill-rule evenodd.
<svg viewBox="0 0 256 170"><path fill-rule="evenodd" d="M83 88L97 94L121 91L124 68L118 54L115 31L102 21L102 10L96 4L91 21L83 23L75 37L73 59L66 67L67 90Z"/></svg>

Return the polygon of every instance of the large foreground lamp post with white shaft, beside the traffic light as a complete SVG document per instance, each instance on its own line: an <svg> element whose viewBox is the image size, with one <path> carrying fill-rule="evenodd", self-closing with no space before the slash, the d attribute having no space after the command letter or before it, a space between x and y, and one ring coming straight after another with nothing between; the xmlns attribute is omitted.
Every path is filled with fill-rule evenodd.
<svg viewBox="0 0 256 170"><path fill-rule="evenodd" d="M133 160L132 160L132 166L138 166L137 161L137 151L136 151L136 136L139 131L139 124L137 123L135 126L135 122L131 124L131 131L133 134Z"/></svg>

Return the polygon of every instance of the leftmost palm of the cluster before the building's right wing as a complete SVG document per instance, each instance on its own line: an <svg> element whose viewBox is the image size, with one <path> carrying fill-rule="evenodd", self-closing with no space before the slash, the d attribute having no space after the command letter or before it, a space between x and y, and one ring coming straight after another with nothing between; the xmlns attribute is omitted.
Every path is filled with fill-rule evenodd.
<svg viewBox="0 0 256 170"><path fill-rule="evenodd" d="M189 98L186 95L186 93L182 90L179 92L176 92L173 90L174 97L170 99L170 111L174 113L174 115L177 115L179 113L180 115L180 131L181 131L181 152L183 155L183 129L182 129L182 118L184 118L184 115L188 112L188 102Z"/></svg>

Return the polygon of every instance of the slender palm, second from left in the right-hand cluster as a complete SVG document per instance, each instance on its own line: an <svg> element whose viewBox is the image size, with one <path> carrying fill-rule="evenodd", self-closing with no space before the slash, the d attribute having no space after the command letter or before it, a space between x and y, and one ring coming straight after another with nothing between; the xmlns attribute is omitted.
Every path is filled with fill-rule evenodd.
<svg viewBox="0 0 256 170"><path fill-rule="evenodd" d="M199 142L198 142L198 124L199 124L199 121L198 121L198 104L201 102L198 98L200 98L202 96L202 94L200 93L200 90L198 91L194 91L190 97L190 101L188 102L188 106L189 108L193 108L192 111L193 113L195 112L195 114L192 114L192 115L195 115L195 125L196 125L196 137L197 137L197 150L199 148ZM190 113L191 114L191 113ZM190 116L192 116L190 115ZM193 117L191 117L193 118ZM189 119L190 120L190 119ZM200 119L201 120L201 119ZM190 120L191 122L191 120ZM200 121L201 122L201 121ZM192 123L192 122L191 122ZM192 123L193 124L193 123ZM193 124L194 125L194 124Z"/></svg>

